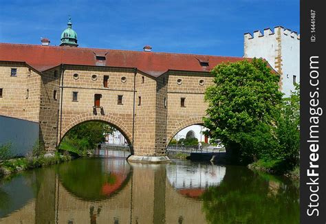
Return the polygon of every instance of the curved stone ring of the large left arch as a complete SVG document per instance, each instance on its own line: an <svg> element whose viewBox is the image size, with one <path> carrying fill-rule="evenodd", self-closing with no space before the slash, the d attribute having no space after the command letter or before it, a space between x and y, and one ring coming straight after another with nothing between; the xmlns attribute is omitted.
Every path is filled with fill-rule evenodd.
<svg viewBox="0 0 326 224"><path fill-rule="evenodd" d="M78 124L82 124L84 122L90 122L90 121L100 121L105 122L107 124L110 124L114 128L116 128L122 135L124 135L125 139L127 140L129 146L131 155L133 155L133 145L132 145L132 131L129 131L127 128L125 122L121 120L119 117L116 117L114 115L94 115L93 113L83 113L80 115L77 115L76 117L73 117L71 120L69 120L69 124L67 126L63 127L61 131L61 135L58 136L58 142L61 143L62 139L65 137L65 135L68 133L68 131L73 128L74 126Z"/></svg>

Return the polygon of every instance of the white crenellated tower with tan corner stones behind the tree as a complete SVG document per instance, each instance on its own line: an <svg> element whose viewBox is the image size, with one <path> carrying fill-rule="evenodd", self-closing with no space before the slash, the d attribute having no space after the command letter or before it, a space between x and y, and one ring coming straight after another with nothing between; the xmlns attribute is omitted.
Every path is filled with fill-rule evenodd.
<svg viewBox="0 0 326 224"><path fill-rule="evenodd" d="M294 91L294 84L300 81L300 34L277 26L274 32L267 28L263 34L256 30L253 35L244 34L244 55L246 58L265 58L280 75L281 91L284 97Z"/></svg>

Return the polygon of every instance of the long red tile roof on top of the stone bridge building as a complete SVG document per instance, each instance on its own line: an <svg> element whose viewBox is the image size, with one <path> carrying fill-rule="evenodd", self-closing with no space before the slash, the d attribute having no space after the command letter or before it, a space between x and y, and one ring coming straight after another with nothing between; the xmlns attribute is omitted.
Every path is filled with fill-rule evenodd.
<svg viewBox="0 0 326 224"><path fill-rule="evenodd" d="M133 52L116 49L96 49L67 46L42 46L0 43L0 60L28 63L39 71L61 64L96 66L96 55L104 56L108 67L136 67L146 74L157 77L168 70L210 71L223 62L243 60L239 57L174 54L161 52ZM208 61L202 67L200 61Z"/></svg>

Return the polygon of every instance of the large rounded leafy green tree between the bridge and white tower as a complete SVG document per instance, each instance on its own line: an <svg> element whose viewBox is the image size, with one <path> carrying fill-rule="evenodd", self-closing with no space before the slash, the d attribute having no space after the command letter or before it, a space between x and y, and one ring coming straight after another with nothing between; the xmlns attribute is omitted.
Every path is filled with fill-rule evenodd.
<svg viewBox="0 0 326 224"><path fill-rule="evenodd" d="M275 144L272 126L279 113L282 95L279 75L264 60L254 58L217 65L208 87L205 126L213 141L226 146L234 161L249 163L259 157L261 144ZM266 141L268 143L266 143Z"/></svg>

